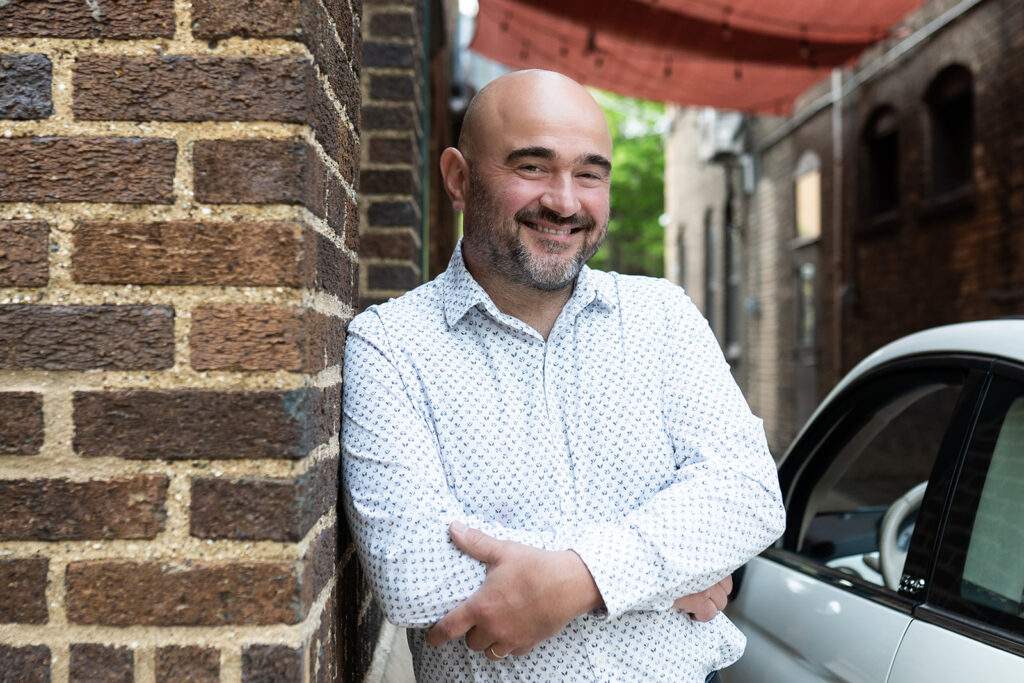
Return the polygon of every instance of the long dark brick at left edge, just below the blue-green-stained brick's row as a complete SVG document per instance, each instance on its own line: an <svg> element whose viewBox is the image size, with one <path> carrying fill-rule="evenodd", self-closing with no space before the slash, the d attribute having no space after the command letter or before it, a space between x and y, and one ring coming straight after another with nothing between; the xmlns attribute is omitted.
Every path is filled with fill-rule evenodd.
<svg viewBox="0 0 1024 683"><path fill-rule="evenodd" d="M164 528L167 477L0 480L0 541L152 539Z"/></svg>

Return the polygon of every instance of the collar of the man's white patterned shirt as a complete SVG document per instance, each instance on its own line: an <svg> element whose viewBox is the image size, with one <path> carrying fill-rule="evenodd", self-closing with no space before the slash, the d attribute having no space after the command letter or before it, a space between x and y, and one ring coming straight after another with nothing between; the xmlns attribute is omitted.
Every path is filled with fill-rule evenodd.
<svg viewBox="0 0 1024 683"><path fill-rule="evenodd" d="M458 324L466 312L477 304L493 308L494 313L498 312L490 297L466 268L466 261L462 257L462 240L456 245L447 270L444 271L443 291L444 321L450 328ZM574 309L570 309L572 313L578 313L594 302L611 309L615 306L614 291L614 283L607 273L592 270L584 265L577 278L572 296L565 305Z"/></svg>

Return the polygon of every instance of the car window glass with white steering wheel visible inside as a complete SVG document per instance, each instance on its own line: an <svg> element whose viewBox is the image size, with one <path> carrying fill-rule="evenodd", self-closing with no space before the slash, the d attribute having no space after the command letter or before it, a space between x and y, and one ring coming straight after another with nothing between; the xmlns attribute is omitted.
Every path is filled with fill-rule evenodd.
<svg viewBox="0 0 1024 683"><path fill-rule="evenodd" d="M884 384L851 397L854 408L842 437L815 454L827 464L811 482L798 552L879 587L886 586L888 573L895 590L963 376L918 375ZM882 557L883 524L891 509L891 543Z"/></svg>

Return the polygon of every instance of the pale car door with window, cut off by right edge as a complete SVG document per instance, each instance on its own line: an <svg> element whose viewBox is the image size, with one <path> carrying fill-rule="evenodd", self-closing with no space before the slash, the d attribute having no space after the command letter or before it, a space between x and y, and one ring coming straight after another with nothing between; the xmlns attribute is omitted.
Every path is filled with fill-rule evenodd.
<svg viewBox="0 0 1024 683"><path fill-rule="evenodd" d="M1024 681L1024 370L996 364L891 683Z"/></svg>

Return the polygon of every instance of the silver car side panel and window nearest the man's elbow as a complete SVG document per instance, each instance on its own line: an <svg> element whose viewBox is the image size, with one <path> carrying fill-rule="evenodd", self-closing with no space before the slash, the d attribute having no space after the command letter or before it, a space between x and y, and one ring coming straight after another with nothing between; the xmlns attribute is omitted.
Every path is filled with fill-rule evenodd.
<svg viewBox="0 0 1024 683"><path fill-rule="evenodd" d="M936 492L949 485L986 370L975 358L891 364L814 417L779 471L786 532L746 565L727 610L748 646L726 683L886 681L921 598L913 582L885 585L880 525L921 484L925 505L941 508ZM940 518L922 509L921 523L899 529L908 556L898 569L927 574L935 533L925 526Z"/></svg>

